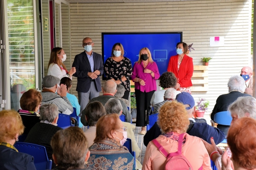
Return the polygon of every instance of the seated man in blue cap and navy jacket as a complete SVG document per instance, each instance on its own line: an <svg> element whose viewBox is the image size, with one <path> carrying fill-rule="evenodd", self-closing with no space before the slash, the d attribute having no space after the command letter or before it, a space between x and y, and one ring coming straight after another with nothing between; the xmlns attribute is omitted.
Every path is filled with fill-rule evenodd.
<svg viewBox="0 0 256 170"><path fill-rule="evenodd" d="M195 111L195 106L194 98L191 96L191 94L187 92L181 92L180 94L177 94L176 100L180 103L183 103L187 110L187 114L190 120L190 125L187 129L187 133L189 135L202 138L208 143L211 143L211 137L213 137L216 145L224 140L225 134L223 133L223 131L218 128L214 128L207 123L195 122L195 120L192 118ZM157 123L155 123L154 126L152 126L152 128L150 128L149 131L147 131L147 133L145 134L144 145L147 146L151 140L157 138L161 134L162 133L159 126L157 125Z"/></svg>

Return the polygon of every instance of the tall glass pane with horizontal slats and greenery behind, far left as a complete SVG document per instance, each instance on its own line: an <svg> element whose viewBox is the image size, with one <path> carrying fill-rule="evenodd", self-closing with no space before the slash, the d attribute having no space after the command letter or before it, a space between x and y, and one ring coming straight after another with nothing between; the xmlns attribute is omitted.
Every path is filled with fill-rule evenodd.
<svg viewBox="0 0 256 170"><path fill-rule="evenodd" d="M6 0L6 6L11 108L18 110L22 94L37 88L36 3L35 0Z"/></svg>

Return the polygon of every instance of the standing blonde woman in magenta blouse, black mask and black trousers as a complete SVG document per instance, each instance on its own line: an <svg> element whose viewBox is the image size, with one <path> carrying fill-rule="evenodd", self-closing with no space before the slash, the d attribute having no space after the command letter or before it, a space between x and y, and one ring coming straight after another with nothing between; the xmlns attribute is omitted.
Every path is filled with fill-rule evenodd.
<svg viewBox="0 0 256 170"><path fill-rule="evenodd" d="M142 127L139 134L146 133L146 113L149 112L150 99L156 91L156 80L160 77L158 67L152 60L147 47L140 50L139 60L133 66L132 80L135 82L137 106L136 126Z"/></svg>

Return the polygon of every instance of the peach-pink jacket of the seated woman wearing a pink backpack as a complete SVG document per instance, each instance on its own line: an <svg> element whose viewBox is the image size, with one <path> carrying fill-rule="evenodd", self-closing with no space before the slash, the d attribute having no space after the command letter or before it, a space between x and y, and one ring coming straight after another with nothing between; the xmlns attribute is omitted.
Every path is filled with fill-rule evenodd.
<svg viewBox="0 0 256 170"><path fill-rule="evenodd" d="M204 147L204 143L200 138L187 134L187 140L182 145L182 154L192 165L194 170L198 170L203 165L203 170L211 170L211 162L209 154ZM160 135L156 140L168 152L176 152L178 150L178 141L166 138ZM151 141L147 145L142 170L164 170L166 157L158 150Z"/></svg>

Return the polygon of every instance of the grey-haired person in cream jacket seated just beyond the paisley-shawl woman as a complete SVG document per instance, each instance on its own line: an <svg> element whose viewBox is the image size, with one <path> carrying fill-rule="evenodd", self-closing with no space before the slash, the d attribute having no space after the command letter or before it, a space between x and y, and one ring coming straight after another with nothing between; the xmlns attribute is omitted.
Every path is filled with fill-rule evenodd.
<svg viewBox="0 0 256 170"><path fill-rule="evenodd" d="M109 99L107 103L105 104L105 109L107 114L116 113L119 116L122 115L122 105L118 99ZM127 127L127 138L130 138L132 141L132 148L133 151L135 151L136 158L140 155L140 148L137 145L133 130L135 129L135 126L128 122L122 122L123 126ZM123 145L123 143L121 143ZM141 163L136 159L136 167L135 169L141 169L142 165Z"/></svg>

